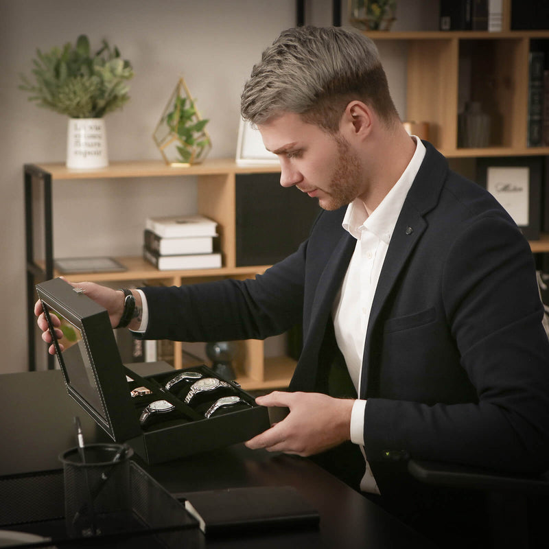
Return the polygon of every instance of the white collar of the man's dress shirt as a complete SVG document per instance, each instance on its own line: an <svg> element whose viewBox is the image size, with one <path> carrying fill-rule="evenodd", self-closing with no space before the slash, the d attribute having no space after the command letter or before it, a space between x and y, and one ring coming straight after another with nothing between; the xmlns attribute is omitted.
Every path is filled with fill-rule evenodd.
<svg viewBox="0 0 549 549"><path fill-rule="evenodd" d="M389 243L393 234L399 213L406 200L406 195L414 183L419 167L425 157L425 145L421 139L412 135L416 143L416 150L406 170L402 173L397 183L393 185L379 206L370 214L366 212L362 200L356 198L347 206L347 211L343 218L342 226L357 240L360 240L362 231L370 231L375 234L379 240L386 244Z"/></svg>

